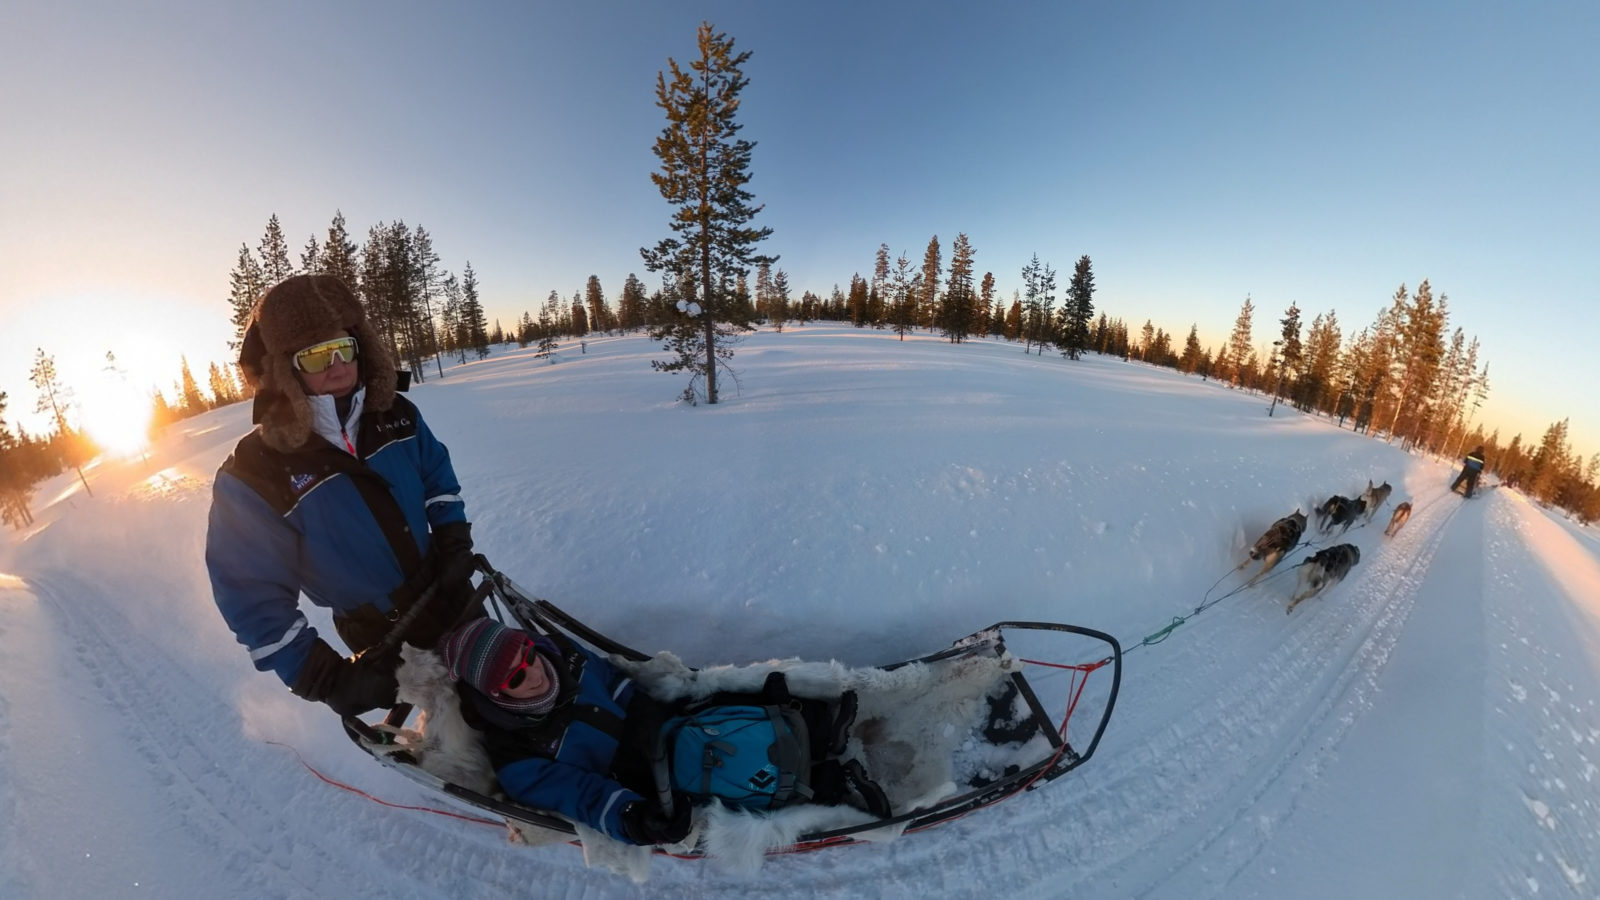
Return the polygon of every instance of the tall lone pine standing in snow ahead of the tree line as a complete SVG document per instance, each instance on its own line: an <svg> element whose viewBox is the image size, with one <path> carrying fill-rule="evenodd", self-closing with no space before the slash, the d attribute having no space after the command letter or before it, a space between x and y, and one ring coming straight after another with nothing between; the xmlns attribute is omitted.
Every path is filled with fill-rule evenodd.
<svg viewBox="0 0 1600 900"><path fill-rule="evenodd" d="M685 399L694 399L694 383L706 381L706 402L717 402L717 365L733 359L733 327L749 328L734 298L731 282L752 264L776 263L776 256L755 251L755 245L771 235L770 227L750 223L762 211L750 205L752 141L739 138L739 94L749 80L742 66L749 51L734 54L733 38L718 34L710 22L698 32L699 58L688 70L667 59L672 78L656 74L656 106L667 115L667 125L656 138L654 154L661 170L650 179L661 197L674 207L667 237L654 248L640 248L645 267L664 272L678 295L682 315L653 331L667 340L666 349L677 359L653 360L658 372L693 372Z"/></svg>

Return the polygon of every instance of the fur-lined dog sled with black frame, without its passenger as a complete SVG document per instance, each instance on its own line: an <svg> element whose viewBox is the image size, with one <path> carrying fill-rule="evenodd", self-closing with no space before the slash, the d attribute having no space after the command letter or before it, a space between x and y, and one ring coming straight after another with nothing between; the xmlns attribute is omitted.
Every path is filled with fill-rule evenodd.
<svg viewBox="0 0 1600 900"><path fill-rule="evenodd" d="M496 617L610 653L619 665L632 666L635 681L653 693L653 684L669 682L682 689L702 681L720 690L758 685L771 671L784 671L797 695L856 690L859 743L853 749L888 793L891 814L877 817L850 806L805 804L776 810L773 817L798 815L792 820L798 825L776 831L781 839L768 838L760 854L893 839L1038 790L1094 754L1122 684L1123 652L1115 637L1042 621L1000 621L942 650L874 668L789 660L694 669L672 653L650 657L597 633L555 604L530 596L483 557L478 567L483 572L478 596L490 601ZM514 838L534 844L584 839L589 852L594 833L586 828L502 799L493 786L474 790L456 783L430 770L426 751L413 751L405 741L397 745L394 735L405 733L411 713L402 703L379 722L347 716L344 727L382 765L456 806L506 820ZM738 815L749 822L752 814L738 810ZM688 858L718 855L707 833L715 834L698 823L685 844L654 852Z"/></svg>

